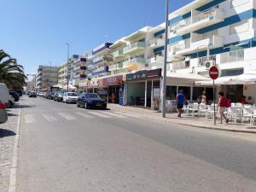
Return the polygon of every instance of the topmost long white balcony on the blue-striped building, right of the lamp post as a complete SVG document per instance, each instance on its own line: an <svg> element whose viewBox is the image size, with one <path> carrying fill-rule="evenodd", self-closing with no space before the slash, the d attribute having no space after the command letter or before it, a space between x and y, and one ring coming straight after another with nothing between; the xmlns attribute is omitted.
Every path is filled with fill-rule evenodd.
<svg viewBox="0 0 256 192"><path fill-rule="evenodd" d="M195 15L195 13L194 15L192 14L192 17L177 23L177 25L173 27L173 31L178 35L183 35L189 32L195 32L207 26L212 26L221 21L224 21L223 11L218 8L213 8L199 15Z"/></svg>

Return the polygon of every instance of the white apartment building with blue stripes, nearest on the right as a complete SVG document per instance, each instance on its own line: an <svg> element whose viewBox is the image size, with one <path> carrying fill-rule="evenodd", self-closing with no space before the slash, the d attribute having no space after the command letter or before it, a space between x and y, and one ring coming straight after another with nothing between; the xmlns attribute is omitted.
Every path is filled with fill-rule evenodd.
<svg viewBox="0 0 256 192"><path fill-rule="evenodd" d="M168 61L171 63L167 66L167 99L174 100L180 89L191 101L196 101L203 90L207 90L212 99L211 86L198 86L195 82L207 81L208 70L213 65L219 68L220 79L255 70L252 54L255 51L255 4L253 0L195 0L169 15ZM161 42L165 33L160 26L153 30L150 41L153 46L154 42ZM148 67L153 69L152 63L157 60L158 67L161 66L163 51L163 46L154 48ZM236 102L243 94L253 96L253 86L220 84L218 90L229 93Z"/></svg>

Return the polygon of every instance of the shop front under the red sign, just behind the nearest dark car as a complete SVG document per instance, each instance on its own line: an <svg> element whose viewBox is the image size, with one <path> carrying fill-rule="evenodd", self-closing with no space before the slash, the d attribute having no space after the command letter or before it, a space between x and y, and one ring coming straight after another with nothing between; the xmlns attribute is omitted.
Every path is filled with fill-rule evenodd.
<svg viewBox="0 0 256 192"><path fill-rule="evenodd" d="M108 88L108 102L123 105L123 75L102 79L102 84Z"/></svg>

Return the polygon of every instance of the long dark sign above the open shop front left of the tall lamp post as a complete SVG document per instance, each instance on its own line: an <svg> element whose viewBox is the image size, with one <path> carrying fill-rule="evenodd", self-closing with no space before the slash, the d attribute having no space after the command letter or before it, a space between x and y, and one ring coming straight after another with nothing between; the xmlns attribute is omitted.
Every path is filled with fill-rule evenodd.
<svg viewBox="0 0 256 192"><path fill-rule="evenodd" d="M126 80L139 80L147 78L156 78L161 76L161 69L154 69L149 71L139 71L137 73L126 74Z"/></svg>

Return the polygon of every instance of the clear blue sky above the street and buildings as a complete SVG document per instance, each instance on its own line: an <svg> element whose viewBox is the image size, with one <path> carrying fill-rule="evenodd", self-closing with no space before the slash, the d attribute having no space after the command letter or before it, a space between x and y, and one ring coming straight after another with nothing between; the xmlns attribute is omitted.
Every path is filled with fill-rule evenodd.
<svg viewBox="0 0 256 192"><path fill-rule="evenodd" d="M193 0L170 0L170 12ZM0 0L0 49L26 74L38 65L59 66L143 26L165 21L166 0Z"/></svg>

